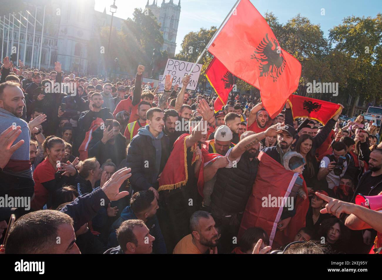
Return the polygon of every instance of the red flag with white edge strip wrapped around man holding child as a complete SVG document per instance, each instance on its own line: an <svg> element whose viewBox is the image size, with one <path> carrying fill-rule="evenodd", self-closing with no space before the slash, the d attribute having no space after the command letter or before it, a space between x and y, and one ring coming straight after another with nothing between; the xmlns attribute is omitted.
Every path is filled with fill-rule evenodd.
<svg viewBox="0 0 382 280"><path fill-rule="evenodd" d="M252 193L244 210L238 237L240 239L244 231L250 227L261 227L269 235L269 245L272 246L273 244L272 247L276 249L285 245L285 243L293 241L298 230L305 226L309 200L297 196L294 205L296 207L295 216L291 218L288 226L283 231L279 231L277 223L280 221L283 207L280 205L271 206L270 203L265 203L266 207L263 207L263 202L269 200L269 198L286 199L298 177L298 173L286 170L280 163L264 152L260 152L258 159L259 169ZM303 182L303 189L308 194L305 182Z"/></svg>

